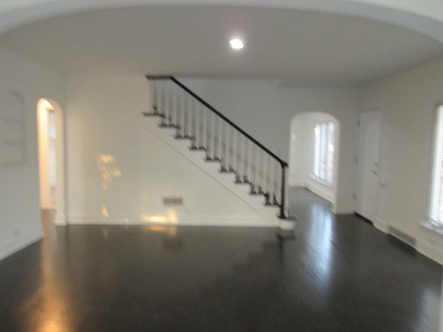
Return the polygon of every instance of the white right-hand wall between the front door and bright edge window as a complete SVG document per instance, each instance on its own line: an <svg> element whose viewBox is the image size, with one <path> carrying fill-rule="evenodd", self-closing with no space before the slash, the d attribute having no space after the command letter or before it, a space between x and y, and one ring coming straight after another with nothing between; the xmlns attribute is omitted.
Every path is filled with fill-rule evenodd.
<svg viewBox="0 0 443 332"><path fill-rule="evenodd" d="M434 259L431 242L441 246L442 239L428 239L419 223L427 217L433 117L436 104L443 102L442 75L443 59L438 59L361 91L361 108L380 107L384 120L379 174L386 186L378 189L376 224L413 237L419 250Z"/></svg>

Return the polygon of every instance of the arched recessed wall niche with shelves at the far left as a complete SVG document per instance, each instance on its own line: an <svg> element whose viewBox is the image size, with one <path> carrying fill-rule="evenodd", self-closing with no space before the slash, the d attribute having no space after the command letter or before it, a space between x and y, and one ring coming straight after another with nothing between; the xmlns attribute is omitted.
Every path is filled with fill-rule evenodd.
<svg viewBox="0 0 443 332"><path fill-rule="evenodd" d="M26 161L26 107L17 91L6 91L0 107L0 165Z"/></svg>

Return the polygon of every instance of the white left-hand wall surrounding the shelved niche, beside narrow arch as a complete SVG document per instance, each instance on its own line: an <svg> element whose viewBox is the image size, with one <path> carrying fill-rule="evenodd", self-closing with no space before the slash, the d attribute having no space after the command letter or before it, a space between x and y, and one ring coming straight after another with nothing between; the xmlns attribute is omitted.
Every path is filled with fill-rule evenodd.
<svg viewBox="0 0 443 332"><path fill-rule="evenodd" d="M37 168L37 101L63 105L61 75L0 48L0 102L6 109L11 91L21 95L26 111L26 160L0 165L0 259L42 236Z"/></svg>

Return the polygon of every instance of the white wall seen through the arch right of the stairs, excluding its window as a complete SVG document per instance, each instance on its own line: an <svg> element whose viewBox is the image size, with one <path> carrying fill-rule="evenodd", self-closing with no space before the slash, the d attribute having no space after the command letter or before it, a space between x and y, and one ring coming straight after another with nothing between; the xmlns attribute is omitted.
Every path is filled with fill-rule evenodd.
<svg viewBox="0 0 443 332"><path fill-rule="evenodd" d="M302 113L295 116L291 122L291 135L289 138L289 185L307 187L311 192L322 196L335 206L336 171L332 185L320 183L311 177L314 163L314 126L321 122L334 122L336 132L340 127L336 119L326 113ZM295 140L293 137L295 136ZM337 160L339 138L335 135L334 160Z"/></svg>

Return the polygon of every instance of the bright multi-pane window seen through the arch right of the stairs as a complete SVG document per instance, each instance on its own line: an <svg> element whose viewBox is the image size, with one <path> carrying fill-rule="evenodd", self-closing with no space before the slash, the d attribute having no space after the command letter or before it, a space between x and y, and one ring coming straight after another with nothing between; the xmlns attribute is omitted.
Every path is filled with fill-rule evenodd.
<svg viewBox="0 0 443 332"><path fill-rule="evenodd" d="M334 122L316 123L314 126L314 169L315 178L332 184L334 174Z"/></svg>

